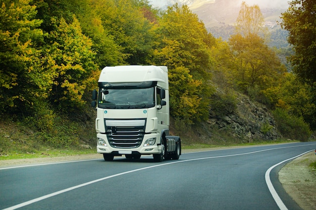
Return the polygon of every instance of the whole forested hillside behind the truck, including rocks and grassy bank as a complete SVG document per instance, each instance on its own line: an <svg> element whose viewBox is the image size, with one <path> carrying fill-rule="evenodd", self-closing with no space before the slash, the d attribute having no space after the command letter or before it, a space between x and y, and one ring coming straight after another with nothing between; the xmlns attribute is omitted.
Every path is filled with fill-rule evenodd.
<svg viewBox="0 0 316 210"><path fill-rule="evenodd" d="M1 154L94 147L90 102L100 70L133 64L168 66L172 132L187 145L314 138L313 72L297 62L286 66L268 45L258 6L242 3L234 33L223 40L186 5L159 10L147 0L0 4ZM290 15L284 15L285 29ZM298 52L304 51L289 52L293 61Z"/></svg>

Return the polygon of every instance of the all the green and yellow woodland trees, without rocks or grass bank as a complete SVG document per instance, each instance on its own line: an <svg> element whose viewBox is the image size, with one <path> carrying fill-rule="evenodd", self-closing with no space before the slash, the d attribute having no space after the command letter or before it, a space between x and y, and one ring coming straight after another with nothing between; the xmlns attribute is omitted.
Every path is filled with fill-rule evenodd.
<svg viewBox="0 0 316 210"><path fill-rule="evenodd" d="M312 0L295 0L282 14L293 71L269 46L256 5L242 3L228 40L215 38L185 5L165 11L146 0L0 5L0 116L44 131L41 139L55 146L78 144L63 130L89 118L84 113L92 109L100 70L113 65L168 66L170 113L187 126L207 120L210 106L221 103L215 99L235 103L239 92L268 107L284 137L299 128L297 138L307 141L316 130L315 16L297 21L314 14ZM214 97L219 89L222 99Z"/></svg>

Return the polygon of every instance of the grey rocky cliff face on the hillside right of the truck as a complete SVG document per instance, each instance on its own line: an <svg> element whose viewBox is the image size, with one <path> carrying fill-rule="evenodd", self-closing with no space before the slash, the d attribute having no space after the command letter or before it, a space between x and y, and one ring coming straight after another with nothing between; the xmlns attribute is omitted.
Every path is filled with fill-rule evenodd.
<svg viewBox="0 0 316 210"><path fill-rule="evenodd" d="M266 107L251 102L243 95L238 95L236 102L236 107L231 109L226 107L228 111L222 116L211 108L210 118L207 121L209 127L230 132L228 135L239 138L242 142L252 142L255 139L269 141L281 137Z"/></svg>

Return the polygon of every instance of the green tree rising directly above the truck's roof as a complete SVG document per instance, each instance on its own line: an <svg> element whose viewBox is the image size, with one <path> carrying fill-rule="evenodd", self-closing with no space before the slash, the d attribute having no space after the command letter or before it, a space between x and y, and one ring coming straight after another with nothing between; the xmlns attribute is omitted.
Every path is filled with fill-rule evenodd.
<svg viewBox="0 0 316 210"><path fill-rule="evenodd" d="M145 3L134 0L91 1L104 30L121 47L125 64L148 64L153 53L154 24L144 16Z"/></svg>

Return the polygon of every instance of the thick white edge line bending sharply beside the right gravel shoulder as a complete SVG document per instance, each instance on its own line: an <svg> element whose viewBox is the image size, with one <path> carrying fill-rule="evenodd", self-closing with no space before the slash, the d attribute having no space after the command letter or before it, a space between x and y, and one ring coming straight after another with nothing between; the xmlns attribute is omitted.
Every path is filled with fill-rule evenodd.
<svg viewBox="0 0 316 210"><path fill-rule="evenodd" d="M272 171L272 169L274 169L274 168L277 167L278 165L280 165L280 164L282 164L282 163L285 163L285 162L287 162L287 161L289 161L289 160L295 159L295 158L297 158L297 157L299 157L299 156L305 155L306 153L310 153L310 152L312 152L312 151L314 151L314 150L310 150L310 151L308 151L308 152L302 153L302 154L300 154L300 155L298 155L298 156L295 156L295 157L293 157L293 158L289 158L289 159L287 159L287 160L285 160L285 161L282 161L282 162L280 162L280 163L277 163L276 165L271 166L271 167L266 171L266 176L265 176L265 177L266 177L266 183L267 183L267 185L268 185L268 188L269 188L269 190L270 190L270 193L271 193L272 196L273 196L273 199L274 199L274 200L276 201L276 203L278 204L280 210L288 210L288 208L285 206L285 204L284 204L283 201L281 200L280 196L278 195L277 191L276 191L275 188L273 187L273 184L272 184L271 179L270 179L270 172Z"/></svg>

